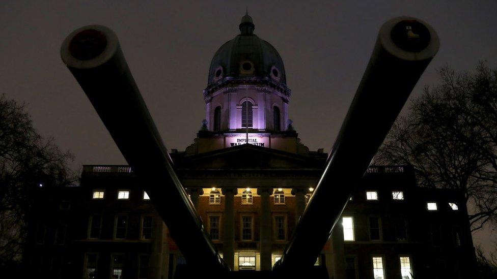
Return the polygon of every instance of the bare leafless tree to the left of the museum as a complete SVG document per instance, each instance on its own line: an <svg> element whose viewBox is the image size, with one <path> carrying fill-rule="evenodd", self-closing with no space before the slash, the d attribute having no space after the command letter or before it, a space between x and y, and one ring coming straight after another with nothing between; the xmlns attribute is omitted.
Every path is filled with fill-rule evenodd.
<svg viewBox="0 0 497 279"><path fill-rule="evenodd" d="M0 95L0 269L21 260L31 189L74 181L69 152L34 129L24 106Z"/></svg>

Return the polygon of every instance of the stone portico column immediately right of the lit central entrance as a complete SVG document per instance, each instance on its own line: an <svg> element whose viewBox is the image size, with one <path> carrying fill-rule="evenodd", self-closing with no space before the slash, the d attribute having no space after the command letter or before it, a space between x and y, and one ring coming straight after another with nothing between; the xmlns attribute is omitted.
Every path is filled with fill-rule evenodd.
<svg viewBox="0 0 497 279"><path fill-rule="evenodd" d="M270 198L272 188L258 188L257 194L261 196L261 270L271 270L272 230Z"/></svg>

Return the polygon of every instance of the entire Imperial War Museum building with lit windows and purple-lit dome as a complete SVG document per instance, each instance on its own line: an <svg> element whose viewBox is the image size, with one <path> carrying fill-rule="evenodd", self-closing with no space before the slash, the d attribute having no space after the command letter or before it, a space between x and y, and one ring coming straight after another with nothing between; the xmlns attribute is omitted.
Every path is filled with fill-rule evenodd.
<svg viewBox="0 0 497 279"><path fill-rule="evenodd" d="M244 15L240 34L216 51L206 120L194 143L170 153L203 228L241 272L280 259L327 159L297 137L283 60L254 28ZM462 192L420 188L409 166L371 166L357 189L315 274L469 278L474 249ZM185 264L128 166L85 165L79 187L38 191L24 258L36 276L173 278Z"/></svg>

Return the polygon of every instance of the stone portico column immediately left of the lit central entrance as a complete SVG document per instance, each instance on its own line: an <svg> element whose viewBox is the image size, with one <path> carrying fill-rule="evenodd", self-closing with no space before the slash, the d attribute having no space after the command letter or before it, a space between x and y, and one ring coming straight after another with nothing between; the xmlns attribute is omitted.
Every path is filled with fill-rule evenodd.
<svg viewBox="0 0 497 279"><path fill-rule="evenodd" d="M236 188L223 188L222 193L225 196L225 211L222 217L223 259L233 269L235 266L235 214L233 212L233 203L238 190Z"/></svg>

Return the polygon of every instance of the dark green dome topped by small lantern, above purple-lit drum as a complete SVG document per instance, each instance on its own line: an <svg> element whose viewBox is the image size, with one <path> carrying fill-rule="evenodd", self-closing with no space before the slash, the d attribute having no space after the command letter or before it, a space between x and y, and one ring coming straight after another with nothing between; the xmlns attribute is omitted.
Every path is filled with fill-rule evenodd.
<svg viewBox="0 0 497 279"><path fill-rule="evenodd" d="M240 35L223 44L212 58L207 85L226 77L269 78L286 85L285 68L278 51L254 35L252 17L245 14L239 25Z"/></svg>

